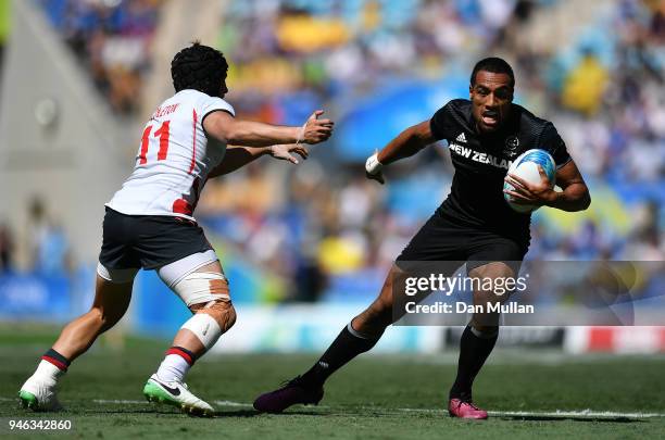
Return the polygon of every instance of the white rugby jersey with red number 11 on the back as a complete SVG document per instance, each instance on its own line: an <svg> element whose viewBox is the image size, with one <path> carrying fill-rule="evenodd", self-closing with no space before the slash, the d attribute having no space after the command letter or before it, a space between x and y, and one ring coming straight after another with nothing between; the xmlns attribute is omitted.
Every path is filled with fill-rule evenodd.
<svg viewBox="0 0 665 440"><path fill-rule="evenodd" d="M205 179L226 153L226 143L208 138L202 121L214 111L235 115L221 98L180 90L146 124L136 165L106 206L127 215L174 215L193 219Z"/></svg>

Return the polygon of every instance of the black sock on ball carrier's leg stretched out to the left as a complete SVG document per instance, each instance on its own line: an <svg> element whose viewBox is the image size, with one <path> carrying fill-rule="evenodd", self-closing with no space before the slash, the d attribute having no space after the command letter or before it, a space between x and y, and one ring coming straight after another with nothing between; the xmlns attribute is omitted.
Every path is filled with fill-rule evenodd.
<svg viewBox="0 0 665 440"><path fill-rule="evenodd" d="M380 338L380 336L372 339L355 336L349 331L349 326L341 330L318 362L302 375L303 384L310 387L323 386L332 373L359 354L369 351Z"/></svg>

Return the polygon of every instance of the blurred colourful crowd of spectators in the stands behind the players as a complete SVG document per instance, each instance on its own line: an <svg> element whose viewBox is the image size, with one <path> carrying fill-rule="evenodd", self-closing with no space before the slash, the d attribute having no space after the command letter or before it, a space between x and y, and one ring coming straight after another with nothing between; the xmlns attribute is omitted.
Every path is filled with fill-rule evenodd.
<svg viewBox="0 0 665 440"><path fill-rule="evenodd" d="M113 106L133 109L160 2L40 1ZM663 260L665 4L589 3L598 11L565 45L529 45L531 20L565 3L574 21L564 0L224 1L227 98L241 117L300 124L312 109L343 115L390 85L446 81L500 54L516 70L518 101L554 121L594 201L574 227L552 210L535 215L528 256ZM451 181L444 146L391 167L380 187L335 142L298 167L264 159L210 181L198 209L211 230L292 280L292 299L375 288Z"/></svg>

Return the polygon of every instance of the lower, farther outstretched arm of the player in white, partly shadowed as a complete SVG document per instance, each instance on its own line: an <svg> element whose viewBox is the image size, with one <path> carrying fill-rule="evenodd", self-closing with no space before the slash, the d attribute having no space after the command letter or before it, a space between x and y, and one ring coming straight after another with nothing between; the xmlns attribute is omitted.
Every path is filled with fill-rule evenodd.
<svg viewBox="0 0 665 440"><path fill-rule="evenodd" d="M229 147L226 149L226 154L224 155L224 160L222 161L222 163L214 167L208 174L208 177L213 178L233 173L236 169L241 168L248 163L253 162L254 160L266 154L269 154L271 156L278 160L288 161L297 164L298 159L296 159L296 156L291 153L297 153L302 159L308 159L309 155L308 149L297 143L260 148Z"/></svg>

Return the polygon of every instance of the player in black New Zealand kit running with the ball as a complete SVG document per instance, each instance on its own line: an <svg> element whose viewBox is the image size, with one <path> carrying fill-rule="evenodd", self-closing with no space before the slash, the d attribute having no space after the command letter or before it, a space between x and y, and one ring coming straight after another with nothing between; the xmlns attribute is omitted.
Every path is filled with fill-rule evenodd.
<svg viewBox="0 0 665 440"><path fill-rule="evenodd" d="M506 192L518 203L564 211L589 206L587 186L554 125L514 104L514 86L513 70L504 60L479 61L470 75L469 100L450 101L431 120L406 128L367 160L367 177L382 184L382 166L446 139L455 167L451 192L399 255L378 298L342 329L306 373L259 397L258 411L279 413L296 403L318 403L325 380L376 344L386 327L400 317L393 313L399 301L393 299L393 279L400 275L400 262L462 261L472 278L515 277L529 246L530 215L507 205L504 180L515 187ZM563 191L552 189L542 168L542 180L536 185L506 176L512 160L536 148L554 158L556 184ZM474 291L475 304L487 301L500 300L491 291ZM473 403L472 385L498 334L497 315L477 314L462 334L457 376L449 393L451 416L487 418L487 412Z"/></svg>

